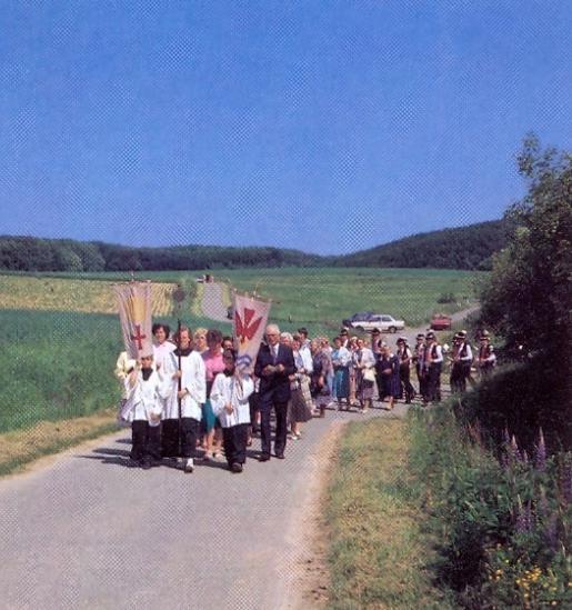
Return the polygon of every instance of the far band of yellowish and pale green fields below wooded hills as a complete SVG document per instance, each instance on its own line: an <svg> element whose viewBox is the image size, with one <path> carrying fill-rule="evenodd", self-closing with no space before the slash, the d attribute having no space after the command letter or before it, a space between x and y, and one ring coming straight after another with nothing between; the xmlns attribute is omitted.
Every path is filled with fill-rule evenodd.
<svg viewBox="0 0 572 610"><path fill-rule="evenodd" d="M422 324L435 311L452 313L475 300L474 284L484 272L448 269L278 268L148 271L137 279L153 281L153 313L172 312L174 283L192 290L203 272L242 291L273 301L271 318L288 324L309 324L313 332L331 332L355 311L373 310ZM124 272L88 274L0 276L0 308L117 311L109 281L128 280ZM443 297L452 302L439 303ZM197 311L197 307L193 308Z"/></svg>

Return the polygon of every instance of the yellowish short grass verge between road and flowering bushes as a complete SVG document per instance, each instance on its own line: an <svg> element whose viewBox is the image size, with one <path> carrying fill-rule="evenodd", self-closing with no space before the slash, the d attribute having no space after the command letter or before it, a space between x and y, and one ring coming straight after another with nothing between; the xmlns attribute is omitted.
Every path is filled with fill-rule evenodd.
<svg viewBox="0 0 572 610"><path fill-rule="evenodd" d="M330 608L450 608L427 570L433 552L409 491L407 423L348 426L327 493Z"/></svg>

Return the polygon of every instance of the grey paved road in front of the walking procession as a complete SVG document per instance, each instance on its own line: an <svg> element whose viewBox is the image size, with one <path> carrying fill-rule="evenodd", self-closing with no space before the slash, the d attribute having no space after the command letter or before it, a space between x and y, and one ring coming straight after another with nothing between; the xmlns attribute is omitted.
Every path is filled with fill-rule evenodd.
<svg viewBox="0 0 572 610"><path fill-rule="evenodd" d="M397 408L404 412L404 406ZM199 464L127 468L129 432L0 481L0 606L7 609L288 608L300 561L291 532L328 411L287 459L249 459L242 474ZM253 449L259 450L254 440ZM312 463L314 467L312 467Z"/></svg>

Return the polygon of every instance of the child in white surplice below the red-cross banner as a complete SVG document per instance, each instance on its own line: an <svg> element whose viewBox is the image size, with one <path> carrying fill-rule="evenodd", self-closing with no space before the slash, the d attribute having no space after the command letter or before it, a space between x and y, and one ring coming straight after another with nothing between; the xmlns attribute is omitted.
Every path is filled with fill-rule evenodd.
<svg viewBox="0 0 572 610"><path fill-rule="evenodd" d="M123 417L131 422L131 460L149 469L161 459L160 423L162 401L171 393L171 382L153 369L153 357L143 356L124 380L127 400Z"/></svg>

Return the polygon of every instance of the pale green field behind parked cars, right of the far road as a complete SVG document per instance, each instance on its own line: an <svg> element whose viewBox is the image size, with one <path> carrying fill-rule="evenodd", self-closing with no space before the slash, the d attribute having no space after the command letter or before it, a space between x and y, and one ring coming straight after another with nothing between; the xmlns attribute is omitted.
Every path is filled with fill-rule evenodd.
<svg viewBox="0 0 572 610"><path fill-rule="evenodd" d="M408 326L427 322L433 312L452 313L475 302L474 284L483 273L445 269L244 269L212 270L239 290L273 300L274 320L339 328L357 311L402 318ZM453 302L439 303L443 296Z"/></svg>

